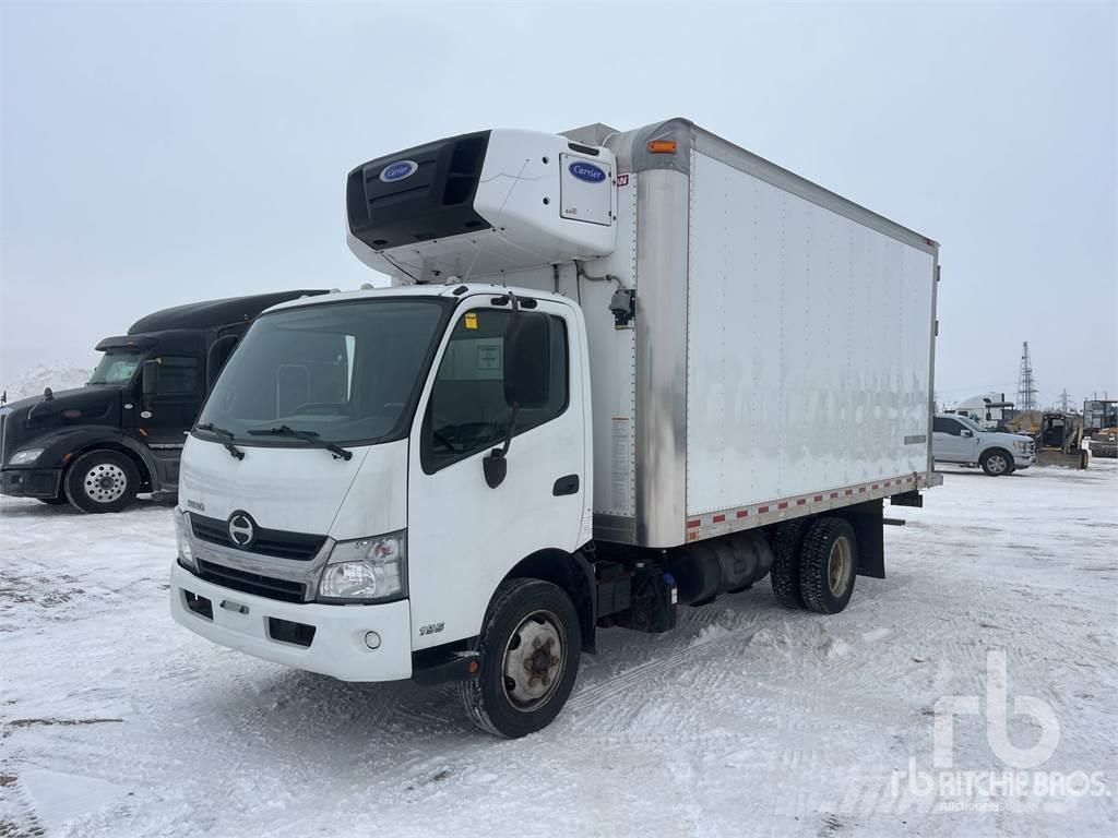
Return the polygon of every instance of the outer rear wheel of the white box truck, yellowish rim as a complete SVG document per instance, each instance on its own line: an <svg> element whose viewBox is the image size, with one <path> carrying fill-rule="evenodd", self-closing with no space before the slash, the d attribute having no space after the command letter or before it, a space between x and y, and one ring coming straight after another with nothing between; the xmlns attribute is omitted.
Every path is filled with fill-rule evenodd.
<svg viewBox="0 0 1118 838"><path fill-rule="evenodd" d="M858 541L854 528L840 517L817 518L799 549L799 587L804 607L817 613L839 613L854 592Z"/></svg>

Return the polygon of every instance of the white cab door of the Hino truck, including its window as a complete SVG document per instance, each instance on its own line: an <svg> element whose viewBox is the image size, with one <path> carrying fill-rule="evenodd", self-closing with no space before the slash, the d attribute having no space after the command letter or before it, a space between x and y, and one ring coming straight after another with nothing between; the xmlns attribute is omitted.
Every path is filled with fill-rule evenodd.
<svg viewBox="0 0 1118 838"><path fill-rule="evenodd" d="M503 306L492 301L504 299ZM536 301L528 301L529 304ZM510 325L543 316L547 397L517 418L504 479L484 460L504 445ZM481 631L490 598L522 559L589 539L588 382L581 315L555 302L514 314L508 297L467 297L433 365L410 437L408 587L413 647Z"/></svg>

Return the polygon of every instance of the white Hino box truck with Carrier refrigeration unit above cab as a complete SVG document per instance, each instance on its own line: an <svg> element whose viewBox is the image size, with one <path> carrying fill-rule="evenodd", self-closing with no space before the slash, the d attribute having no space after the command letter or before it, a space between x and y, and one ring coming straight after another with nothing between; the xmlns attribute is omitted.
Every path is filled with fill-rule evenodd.
<svg viewBox="0 0 1118 838"><path fill-rule="evenodd" d="M938 245L691 122L440 140L347 202L394 287L263 314L182 455L171 608L217 644L520 736L598 628L766 574L841 611L939 483Z"/></svg>

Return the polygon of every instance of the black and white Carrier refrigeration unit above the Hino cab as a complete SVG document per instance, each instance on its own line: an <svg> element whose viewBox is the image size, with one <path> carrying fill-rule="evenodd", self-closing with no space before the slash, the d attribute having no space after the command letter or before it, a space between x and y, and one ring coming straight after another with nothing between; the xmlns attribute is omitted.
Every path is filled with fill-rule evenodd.
<svg viewBox="0 0 1118 838"><path fill-rule="evenodd" d="M350 249L405 282L607 256L616 173L607 149L557 134L496 128L419 145L350 172Z"/></svg>

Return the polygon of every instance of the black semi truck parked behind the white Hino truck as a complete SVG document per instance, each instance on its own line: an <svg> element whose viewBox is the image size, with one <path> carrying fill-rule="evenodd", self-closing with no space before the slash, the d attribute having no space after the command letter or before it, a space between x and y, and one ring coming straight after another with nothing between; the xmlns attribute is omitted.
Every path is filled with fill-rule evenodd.
<svg viewBox="0 0 1118 838"><path fill-rule="evenodd" d="M165 308L97 344L88 383L0 408L0 492L82 512L120 512L173 492L184 435L249 323L325 291L286 291Z"/></svg>

